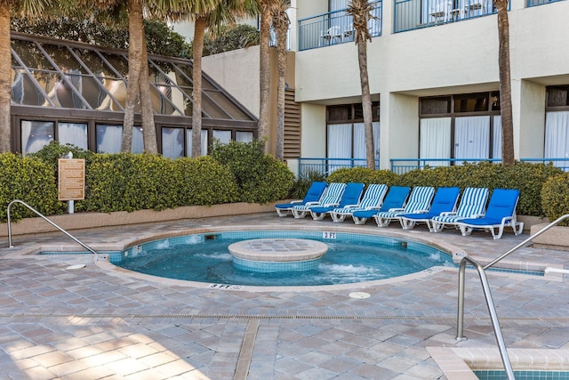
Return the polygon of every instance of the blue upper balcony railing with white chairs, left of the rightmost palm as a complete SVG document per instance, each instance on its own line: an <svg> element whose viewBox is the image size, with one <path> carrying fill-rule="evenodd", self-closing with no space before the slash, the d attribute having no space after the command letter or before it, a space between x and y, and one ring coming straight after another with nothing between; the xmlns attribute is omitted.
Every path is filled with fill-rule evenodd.
<svg viewBox="0 0 569 380"><path fill-rule="evenodd" d="M493 0L396 0L393 30L397 33L435 27L449 22L487 16L494 12L496 10Z"/></svg>

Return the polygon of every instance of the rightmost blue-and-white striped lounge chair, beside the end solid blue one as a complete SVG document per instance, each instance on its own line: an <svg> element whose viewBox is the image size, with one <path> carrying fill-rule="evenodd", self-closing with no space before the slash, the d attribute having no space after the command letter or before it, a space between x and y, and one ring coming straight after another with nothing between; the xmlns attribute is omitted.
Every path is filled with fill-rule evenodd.
<svg viewBox="0 0 569 380"><path fill-rule="evenodd" d="M475 215L484 214L486 200L488 200L488 189L486 188L466 188L462 192L461 201L456 212L443 213L433 216L430 219L430 231L439 232L445 226L458 227L457 222L462 219L471 218Z"/></svg>

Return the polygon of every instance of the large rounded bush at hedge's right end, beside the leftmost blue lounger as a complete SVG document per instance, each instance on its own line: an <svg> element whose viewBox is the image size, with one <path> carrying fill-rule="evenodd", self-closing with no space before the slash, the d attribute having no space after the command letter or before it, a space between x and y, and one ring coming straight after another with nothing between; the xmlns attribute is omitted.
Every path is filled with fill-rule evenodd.
<svg viewBox="0 0 569 380"><path fill-rule="evenodd" d="M284 199L293 187L294 174L284 163L265 154L260 141L228 144L214 142L212 158L228 166L235 175L240 201L267 203Z"/></svg>

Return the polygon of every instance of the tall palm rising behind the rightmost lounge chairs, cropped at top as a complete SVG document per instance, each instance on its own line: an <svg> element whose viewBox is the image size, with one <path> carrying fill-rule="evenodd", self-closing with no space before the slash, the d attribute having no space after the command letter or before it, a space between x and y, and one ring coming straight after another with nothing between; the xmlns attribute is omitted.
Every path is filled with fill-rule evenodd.
<svg viewBox="0 0 569 380"><path fill-rule="evenodd" d="M500 69L501 162L514 165L514 125L512 117L512 88L509 68L508 0L494 0L498 9L498 65Z"/></svg>

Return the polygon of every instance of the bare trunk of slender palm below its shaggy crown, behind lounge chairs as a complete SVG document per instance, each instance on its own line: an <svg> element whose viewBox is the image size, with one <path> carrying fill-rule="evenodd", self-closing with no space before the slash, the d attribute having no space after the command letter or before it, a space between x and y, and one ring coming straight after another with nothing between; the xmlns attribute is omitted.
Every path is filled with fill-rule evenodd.
<svg viewBox="0 0 569 380"><path fill-rule="evenodd" d="M357 62L359 64L359 79L362 85L362 110L364 112L365 160L367 167L375 169L375 152L373 150L373 113L370 81L367 75L367 41L357 44Z"/></svg>

